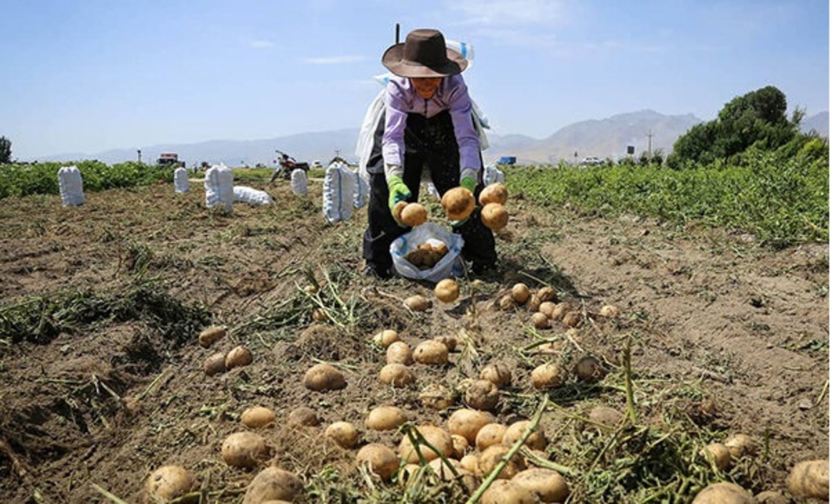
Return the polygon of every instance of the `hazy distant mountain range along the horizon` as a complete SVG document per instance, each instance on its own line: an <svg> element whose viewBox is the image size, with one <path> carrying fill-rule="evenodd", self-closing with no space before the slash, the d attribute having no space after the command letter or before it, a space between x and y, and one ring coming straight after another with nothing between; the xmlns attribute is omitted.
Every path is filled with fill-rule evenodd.
<svg viewBox="0 0 832 504"><path fill-rule="evenodd" d="M663 115L654 110L640 110L613 115L602 120L584 120L567 125L545 139L526 135L495 135L488 133L490 146L483 151L486 163L502 156L515 156L519 164L557 164L561 159L578 161L588 156L618 159L632 146L636 155L651 150L669 154L680 135L702 120L695 115ZM829 137L829 112L807 117L801 130L815 130ZM141 147L141 159L153 163L163 152L175 152L186 164L195 166L207 161L229 166L274 165L275 149L299 161L319 160L327 164L336 154L355 162L355 144L359 129L321 131L257 140L210 140L197 144L164 144ZM136 149L112 149L97 154L58 154L40 158L42 161L98 159L107 164L136 160Z"/></svg>

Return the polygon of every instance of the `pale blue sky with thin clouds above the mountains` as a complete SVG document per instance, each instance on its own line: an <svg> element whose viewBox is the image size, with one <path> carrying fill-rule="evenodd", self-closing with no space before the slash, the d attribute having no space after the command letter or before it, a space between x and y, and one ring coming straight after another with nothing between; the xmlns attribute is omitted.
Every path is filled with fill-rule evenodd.
<svg viewBox="0 0 832 504"><path fill-rule="evenodd" d="M0 0L12 157L357 128L401 24L474 47L500 135L634 110L711 120L764 86L829 110L827 0Z"/></svg>

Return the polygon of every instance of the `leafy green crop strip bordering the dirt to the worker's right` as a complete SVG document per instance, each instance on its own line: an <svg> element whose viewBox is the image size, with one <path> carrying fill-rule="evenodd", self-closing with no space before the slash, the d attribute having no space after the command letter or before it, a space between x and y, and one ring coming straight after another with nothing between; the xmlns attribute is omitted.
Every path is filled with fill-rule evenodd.
<svg viewBox="0 0 832 504"><path fill-rule="evenodd" d="M829 240L829 156L747 153L742 164L696 169L655 165L518 167L510 193L537 203L604 214L636 213L674 223L698 221L753 233L773 247Z"/></svg>

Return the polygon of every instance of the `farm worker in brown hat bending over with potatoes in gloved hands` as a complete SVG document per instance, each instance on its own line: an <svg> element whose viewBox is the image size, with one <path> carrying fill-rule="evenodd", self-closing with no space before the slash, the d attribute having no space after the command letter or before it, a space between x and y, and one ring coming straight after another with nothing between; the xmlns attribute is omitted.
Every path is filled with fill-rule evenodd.
<svg viewBox="0 0 832 504"><path fill-rule="evenodd" d="M478 196L483 160L471 97L460 75L468 61L447 48L441 32L409 32L404 43L384 52L382 64L397 77L387 85L366 167L370 197L364 274L389 278L390 244L409 231L394 219L395 204L418 201L423 170L440 196L458 186ZM480 221L479 208L452 226L465 241L463 258L473 262L474 274L496 267L494 235Z"/></svg>

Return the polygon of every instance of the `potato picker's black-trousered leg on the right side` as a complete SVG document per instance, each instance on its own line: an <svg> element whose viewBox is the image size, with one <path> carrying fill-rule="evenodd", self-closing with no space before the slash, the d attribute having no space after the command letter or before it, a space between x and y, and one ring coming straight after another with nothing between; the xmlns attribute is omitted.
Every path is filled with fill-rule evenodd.
<svg viewBox="0 0 832 504"><path fill-rule="evenodd" d="M428 137L433 149L428 151L427 164L433 185L441 196L459 185L459 148L456 136L453 135L450 114L443 112L428 120L428 123ZM482 190L483 182L480 180L474 190L474 198L478 198ZM473 270L476 273L484 272L497 264L493 232L480 220L479 212L479 207L474 208L465 223L453 228L453 232L462 235L465 241L463 258L473 262Z"/></svg>

